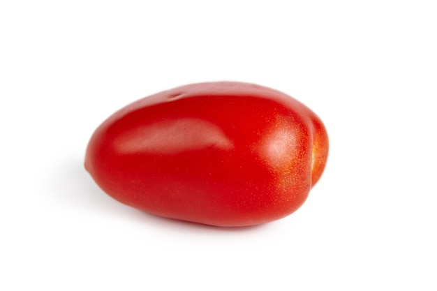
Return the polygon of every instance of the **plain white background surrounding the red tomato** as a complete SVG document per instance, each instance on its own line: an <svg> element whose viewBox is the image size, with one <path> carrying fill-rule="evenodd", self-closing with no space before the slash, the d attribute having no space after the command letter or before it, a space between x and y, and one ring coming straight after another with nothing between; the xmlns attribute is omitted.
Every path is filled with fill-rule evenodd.
<svg viewBox="0 0 437 291"><path fill-rule="evenodd" d="M437 290L435 1L1 1L0 290ZM193 82L284 91L325 122L295 214L149 216L83 168L94 129Z"/></svg>

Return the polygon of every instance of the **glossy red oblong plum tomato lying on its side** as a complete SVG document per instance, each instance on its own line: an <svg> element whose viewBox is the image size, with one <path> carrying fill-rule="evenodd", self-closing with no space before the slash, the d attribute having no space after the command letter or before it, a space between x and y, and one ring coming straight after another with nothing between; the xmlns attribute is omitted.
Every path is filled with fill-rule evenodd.
<svg viewBox="0 0 437 291"><path fill-rule="evenodd" d="M327 153L325 126L299 101L255 84L209 82L114 113L92 135L85 167L119 202L229 227L298 209Z"/></svg>

